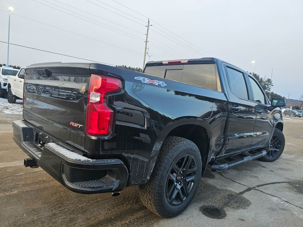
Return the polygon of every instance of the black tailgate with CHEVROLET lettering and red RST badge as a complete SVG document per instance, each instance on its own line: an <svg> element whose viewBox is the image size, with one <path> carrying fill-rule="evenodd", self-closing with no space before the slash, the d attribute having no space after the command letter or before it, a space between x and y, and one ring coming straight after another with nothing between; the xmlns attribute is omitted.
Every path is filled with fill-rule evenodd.
<svg viewBox="0 0 303 227"><path fill-rule="evenodd" d="M90 64L37 64L26 68L24 120L84 150Z"/></svg>

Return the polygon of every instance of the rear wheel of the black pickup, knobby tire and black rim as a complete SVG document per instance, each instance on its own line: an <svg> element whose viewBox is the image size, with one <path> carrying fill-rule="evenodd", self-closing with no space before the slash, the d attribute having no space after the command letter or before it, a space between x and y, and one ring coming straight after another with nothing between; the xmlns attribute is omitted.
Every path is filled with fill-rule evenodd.
<svg viewBox="0 0 303 227"><path fill-rule="evenodd" d="M164 218L180 214L196 193L201 169L201 154L194 142L167 137L149 181L139 185L142 203Z"/></svg>

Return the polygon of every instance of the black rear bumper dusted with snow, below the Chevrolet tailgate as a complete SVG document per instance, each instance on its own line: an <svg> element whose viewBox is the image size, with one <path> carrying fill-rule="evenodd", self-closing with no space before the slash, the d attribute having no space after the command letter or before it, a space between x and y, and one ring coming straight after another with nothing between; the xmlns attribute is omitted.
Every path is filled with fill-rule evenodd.
<svg viewBox="0 0 303 227"><path fill-rule="evenodd" d="M47 137L52 143L45 144L42 151L34 142L34 137L42 133L40 129L22 120L14 121L13 129L15 143L66 188L85 194L119 192L125 188L128 170L121 160L89 159L50 136Z"/></svg>

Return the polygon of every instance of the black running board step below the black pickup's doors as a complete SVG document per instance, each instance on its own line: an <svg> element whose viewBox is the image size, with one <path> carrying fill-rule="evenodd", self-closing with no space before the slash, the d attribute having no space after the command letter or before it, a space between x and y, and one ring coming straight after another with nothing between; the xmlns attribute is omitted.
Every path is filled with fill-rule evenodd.
<svg viewBox="0 0 303 227"><path fill-rule="evenodd" d="M266 151L265 150L261 150L261 151L258 151L258 152L255 152L255 153L252 153L252 154L249 154L249 155L245 155L239 159L234 159L230 162L227 162L227 163L213 163L211 165L211 171L212 172L222 172L226 169L230 169L231 167L234 167L234 166L237 166L237 165L240 165L242 163L247 163L247 162L250 162L252 160L255 160L257 158L261 158L263 156L266 155Z"/></svg>

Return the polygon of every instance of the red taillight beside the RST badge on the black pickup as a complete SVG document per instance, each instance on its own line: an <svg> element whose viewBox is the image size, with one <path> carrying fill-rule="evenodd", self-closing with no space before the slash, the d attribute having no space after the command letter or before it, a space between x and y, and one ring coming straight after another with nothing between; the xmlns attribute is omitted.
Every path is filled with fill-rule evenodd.
<svg viewBox="0 0 303 227"><path fill-rule="evenodd" d="M92 74L87 97L85 133L91 136L108 136L112 132L114 112L106 104L108 94L122 90L121 80Z"/></svg>

